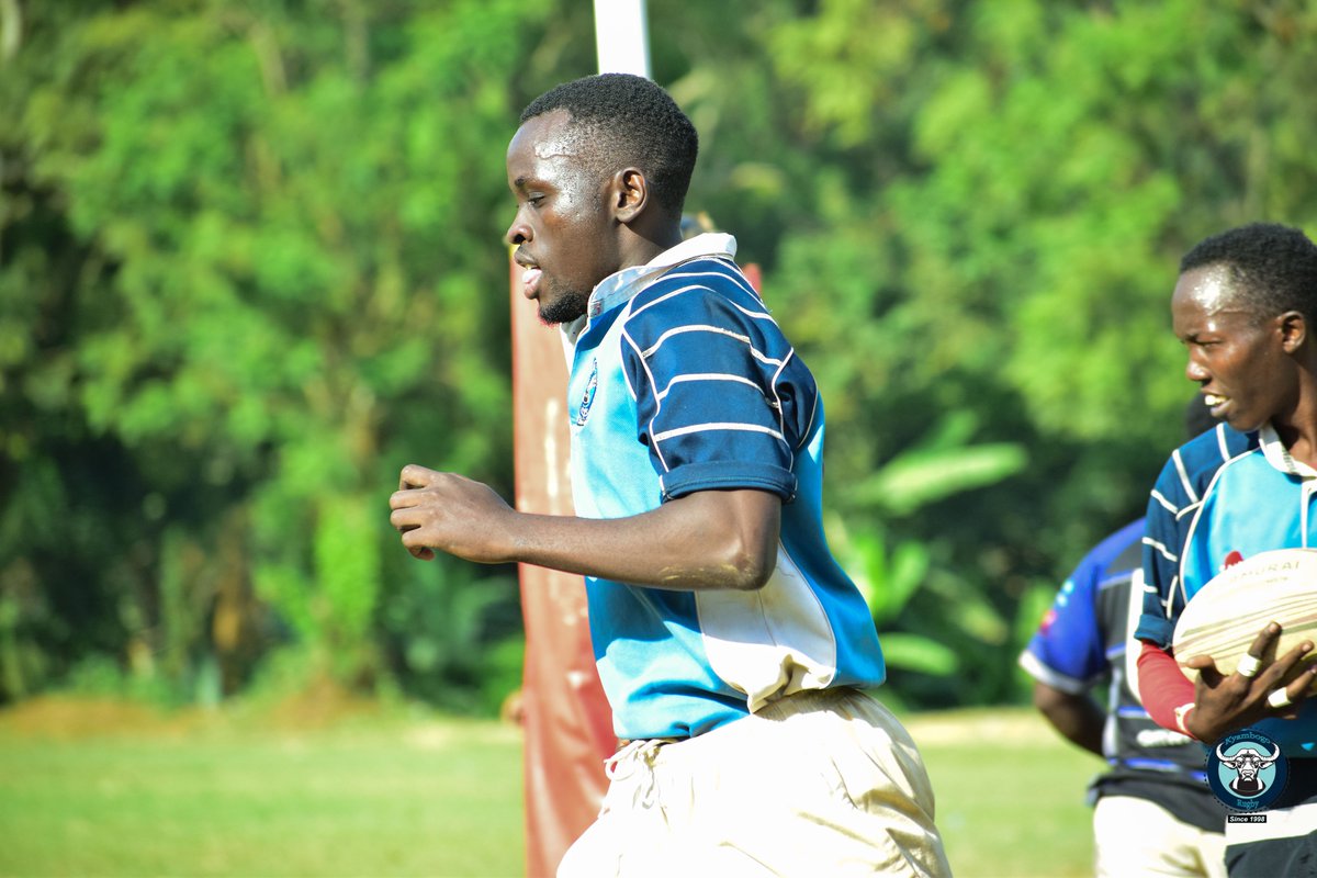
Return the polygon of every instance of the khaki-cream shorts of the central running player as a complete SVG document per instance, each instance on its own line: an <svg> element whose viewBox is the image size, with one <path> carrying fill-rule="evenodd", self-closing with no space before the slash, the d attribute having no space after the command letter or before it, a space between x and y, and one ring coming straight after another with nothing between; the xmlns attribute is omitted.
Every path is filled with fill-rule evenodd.
<svg viewBox="0 0 1317 878"><path fill-rule="evenodd" d="M950 875L909 733L855 690L792 695L608 761L595 823L558 878Z"/></svg>

